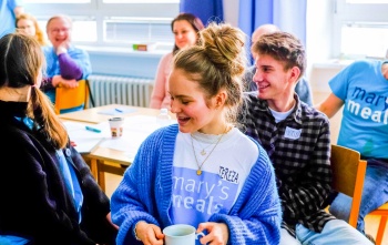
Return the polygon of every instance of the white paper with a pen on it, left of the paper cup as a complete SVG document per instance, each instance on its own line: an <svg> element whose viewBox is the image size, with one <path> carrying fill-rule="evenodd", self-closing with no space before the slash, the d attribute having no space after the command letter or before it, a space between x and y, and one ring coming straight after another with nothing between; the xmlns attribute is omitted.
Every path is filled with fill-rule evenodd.
<svg viewBox="0 0 388 245"><path fill-rule="evenodd" d="M67 127L70 140L76 144L75 150L79 153L90 153L102 140L110 136L108 123L90 125L81 122L65 121L63 124ZM86 130L86 125L101 130L101 133Z"/></svg>

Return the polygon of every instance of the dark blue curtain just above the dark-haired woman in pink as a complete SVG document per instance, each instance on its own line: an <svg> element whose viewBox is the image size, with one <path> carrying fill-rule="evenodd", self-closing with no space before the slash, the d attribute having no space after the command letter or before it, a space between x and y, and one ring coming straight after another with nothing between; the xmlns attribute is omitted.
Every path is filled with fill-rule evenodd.
<svg viewBox="0 0 388 245"><path fill-rule="evenodd" d="M224 21L223 0L181 0L180 12L188 12L207 23Z"/></svg>

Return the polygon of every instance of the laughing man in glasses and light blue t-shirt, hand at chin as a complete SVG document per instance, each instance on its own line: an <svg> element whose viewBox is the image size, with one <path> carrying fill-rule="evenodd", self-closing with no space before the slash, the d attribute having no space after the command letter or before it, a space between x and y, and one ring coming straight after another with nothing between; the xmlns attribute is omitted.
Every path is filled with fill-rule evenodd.
<svg viewBox="0 0 388 245"><path fill-rule="evenodd" d="M92 65L88 52L71 43L72 20L70 17L53 16L48 20L45 29L52 45L43 47L48 68L41 89L54 103L55 86L59 84L65 84L68 88L76 86L78 80L88 79L92 73ZM62 110L61 113L82 109L83 106Z"/></svg>

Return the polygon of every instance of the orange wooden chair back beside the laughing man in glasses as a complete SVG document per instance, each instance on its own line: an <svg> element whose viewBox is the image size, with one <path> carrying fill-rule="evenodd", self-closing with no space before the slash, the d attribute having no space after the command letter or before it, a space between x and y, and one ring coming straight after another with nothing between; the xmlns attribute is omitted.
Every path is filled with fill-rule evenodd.
<svg viewBox="0 0 388 245"><path fill-rule="evenodd" d="M89 90L86 80L78 81L79 85L74 89L57 86L54 111L60 114L61 110L72 108L86 108L89 103Z"/></svg>

